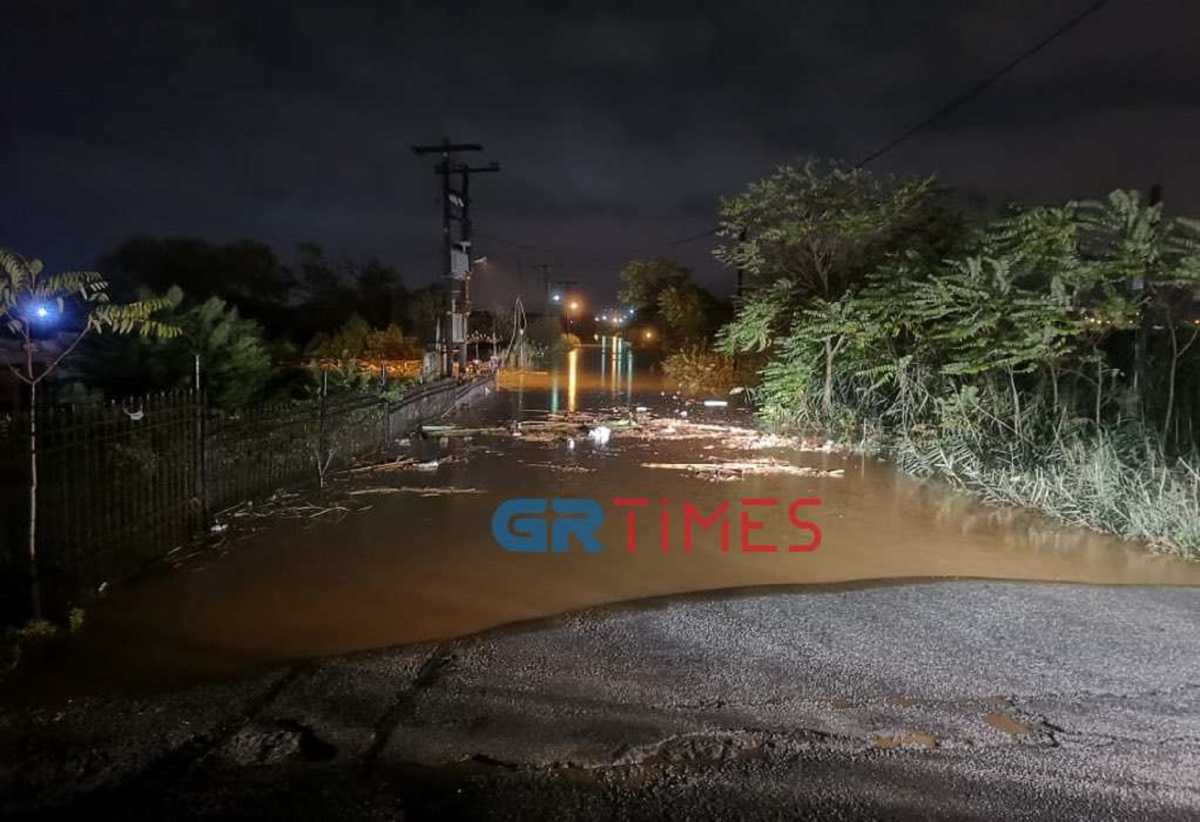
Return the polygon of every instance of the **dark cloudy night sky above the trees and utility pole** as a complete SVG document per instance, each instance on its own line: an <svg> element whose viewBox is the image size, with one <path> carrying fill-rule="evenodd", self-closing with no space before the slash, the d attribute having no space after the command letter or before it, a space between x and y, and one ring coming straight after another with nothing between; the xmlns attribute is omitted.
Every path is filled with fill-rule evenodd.
<svg viewBox="0 0 1200 822"><path fill-rule="evenodd" d="M548 262L600 299L664 253L728 293L708 242L671 245L721 194L866 155L1088 5L6 1L0 245L312 240L421 284L438 188L409 145L450 134L504 166L473 185L497 282ZM1198 31L1195 0L1112 0L872 168L992 202L1162 182L1200 212Z"/></svg>

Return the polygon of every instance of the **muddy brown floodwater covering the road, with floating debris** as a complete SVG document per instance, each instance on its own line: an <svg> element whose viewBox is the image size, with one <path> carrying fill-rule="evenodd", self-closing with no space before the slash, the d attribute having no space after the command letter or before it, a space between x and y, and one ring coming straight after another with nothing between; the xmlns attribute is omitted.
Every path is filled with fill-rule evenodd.
<svg viewBox="0 0 1200 822"><path fill-rule="evenodd" d="M638 355L640 356L640 355ZM546 419L547 413L648 406L661 415L742 424L737 408L685 406L628 350L588 347L548 373L510 374L461 425ZM650 596L749 586L812 586L899 578L986 577L1105 584L1200 584L1200 564L1064 528L1027 511L997 510L859 457L790 450L749 455L727 438L656 440L614 428L610 442L476 438L464 460L396 485L478 488L482 493L372 496L372 510L336 524L284 523L210 564L125 586L88 613L59 684L89 690L179 684L263 664L462 636L565 611ZM748 476L714 482L644 463L762 458L845 470L844 476ZM606 518L604 550L511 553L492 538L496 506L512 497L592 497ZM616 497L647 497L626 550ZM822 530L815 552L745 553L739 503L764 524L755 545L805 541L785 506L820 497L805 518ZM660 548L667 500L672 550ZM683 503L713 511L731 502L731 547L718 529L696 530L682 551ZM980 607L986 607L980 602Z"/></svg>

